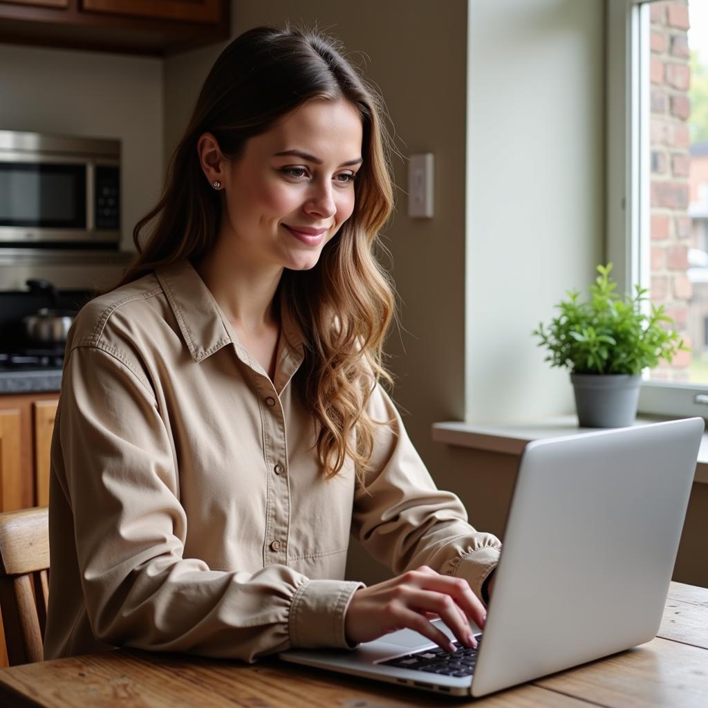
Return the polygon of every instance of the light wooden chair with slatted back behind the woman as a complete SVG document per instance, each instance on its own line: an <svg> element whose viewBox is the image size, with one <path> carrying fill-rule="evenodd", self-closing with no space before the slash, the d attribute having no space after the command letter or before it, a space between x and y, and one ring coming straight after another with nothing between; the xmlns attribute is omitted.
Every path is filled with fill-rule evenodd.
<svg viewBox="0 0 708 708"><path fill-rule="evenodd" d="M42 661L48 598L47 507L0 513L0 610L10 666Z"/></svg>

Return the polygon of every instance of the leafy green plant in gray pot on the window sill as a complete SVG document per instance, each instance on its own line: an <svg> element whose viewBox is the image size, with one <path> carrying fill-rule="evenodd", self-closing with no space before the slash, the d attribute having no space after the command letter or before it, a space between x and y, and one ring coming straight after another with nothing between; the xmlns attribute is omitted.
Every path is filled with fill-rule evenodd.
<svg viewBox="0 0 708 708"><path fill-rule="evenodd" d="M651 304L647 312L648 291L639 285L634 297L619 297L611 271L612 263L598 265L590 299L579 302L580 292L569 291L547 329L541 323L533 332L548 350L545 360L570 370L578 423L592 428L632 425L641 371L688 350L668 329L673 320L663 305Z"/></svg>

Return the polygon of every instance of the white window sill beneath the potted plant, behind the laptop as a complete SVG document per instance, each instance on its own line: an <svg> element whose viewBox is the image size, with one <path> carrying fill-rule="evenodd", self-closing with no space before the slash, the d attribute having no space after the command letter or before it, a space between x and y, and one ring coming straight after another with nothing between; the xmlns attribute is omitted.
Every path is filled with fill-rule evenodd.
<svg viewBox="0 0 708 708"><path fill-rule="evenodd" d="M640 416L635 426L666 420L653 416ZM531 440L559 438L562 435L595 433L599 428L578 428L576 416L543 418L533 423L461 423L446 421L433 423L433 440L447 445L472 447L475 450L505 452L520 455ZM708 484L708 433L704 433L698 452L695 482Z"/></svg>

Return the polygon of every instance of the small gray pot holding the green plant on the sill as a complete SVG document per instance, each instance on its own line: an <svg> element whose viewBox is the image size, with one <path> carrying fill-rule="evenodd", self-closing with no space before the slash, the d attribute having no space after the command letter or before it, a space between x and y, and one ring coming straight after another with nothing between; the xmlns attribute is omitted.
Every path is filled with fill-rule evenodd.
<svg viewBox="0 0 708 708"><path fill-rule="evenodd" d="M641 374L571 374L581 428L624 428L636 418Z"/></svg>

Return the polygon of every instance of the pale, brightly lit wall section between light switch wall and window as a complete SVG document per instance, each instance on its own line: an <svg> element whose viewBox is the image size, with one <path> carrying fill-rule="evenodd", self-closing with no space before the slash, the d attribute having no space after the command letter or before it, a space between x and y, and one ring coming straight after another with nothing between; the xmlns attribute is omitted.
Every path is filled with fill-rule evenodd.
<svg viewBox="0 0 708 708"><path fill-rule="evenodd" d="M469 5L468 420L574 410L531 331L603 260L604 5Z"/></svg>

